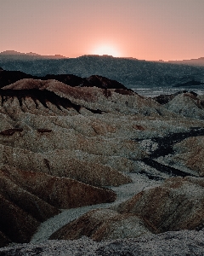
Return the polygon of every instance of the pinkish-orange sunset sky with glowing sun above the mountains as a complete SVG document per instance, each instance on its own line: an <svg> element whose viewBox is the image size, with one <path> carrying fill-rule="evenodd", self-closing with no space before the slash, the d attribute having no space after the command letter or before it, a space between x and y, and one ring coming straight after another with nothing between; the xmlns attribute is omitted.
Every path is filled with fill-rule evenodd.
<svg viewBox="0 0 204 256"><path fill-rule="evenodd" d="M0 0L0 52L204 57L204 0Z"/></svg>

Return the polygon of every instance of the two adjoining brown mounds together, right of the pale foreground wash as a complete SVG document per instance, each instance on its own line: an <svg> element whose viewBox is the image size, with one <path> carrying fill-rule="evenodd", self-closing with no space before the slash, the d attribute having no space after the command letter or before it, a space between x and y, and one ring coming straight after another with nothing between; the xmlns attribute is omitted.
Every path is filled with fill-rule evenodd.
<svg viewBox="0 0 204 256"><path fill-rule="evenodd" d="M204 227L204 180L172 177L161 186L145 189L111 209L90 211L66 224L49 239L95 241L144 236Z"/></svg>

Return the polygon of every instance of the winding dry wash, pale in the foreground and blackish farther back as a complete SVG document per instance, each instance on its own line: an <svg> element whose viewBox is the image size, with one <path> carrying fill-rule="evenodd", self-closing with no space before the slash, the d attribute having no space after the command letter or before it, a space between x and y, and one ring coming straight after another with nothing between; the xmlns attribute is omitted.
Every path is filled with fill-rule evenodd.
<svg viewBox="0 0 204 256"><path fill-rule="evenodd" d="M190 129L190 131L172 133L167 135L166 137L151 138L151 141L153 143L157 143L158 146L156 150L150 153L149 158L145 158L142 160L144 162L144 165L153 167L159 172L166 172L168 177L184 177L187 175L192 175L187 172L182 172L171 166L162 165L161 163L158 163L156 160L154 160L154 158L167 154L173 154L174 143L179 143L185 138L196 136L204 136L204 128L193 127ZM143 141L143 139L133 140L137 142ZM162 178L156 180L156 177L154 175L151 176L148 173L128 173L128 176L132 178L133 183L124 184L119 187L110 187L110 189L113 189L116 192L117 199L115 202L64 210L59 213L59 215L54 216L54 218L49 218L47 221L42 223L37 230L37 233L32 237L31 243L38 243L48 240L48 237L51 236L54 231L58 230L60 227L71 222L72 220L79 218L80 216L82 216L82 214L92 209L115 206L122 201L126 201L133 195L138 194L140 191L159 186L163 182Z"/></svg>

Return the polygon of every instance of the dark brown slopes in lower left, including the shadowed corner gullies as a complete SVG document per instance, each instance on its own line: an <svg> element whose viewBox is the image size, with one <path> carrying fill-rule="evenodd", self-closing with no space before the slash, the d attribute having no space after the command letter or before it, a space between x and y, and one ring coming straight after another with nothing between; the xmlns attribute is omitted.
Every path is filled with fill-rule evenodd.
<svg viewBox="0 0 204 256"><path fill-rule="evenodd" d="M7 241L30 241L40 222L58 214L59 209L116 200L116 194L108 189L11 166L1 167L0 185L3 245Z"/></svg>

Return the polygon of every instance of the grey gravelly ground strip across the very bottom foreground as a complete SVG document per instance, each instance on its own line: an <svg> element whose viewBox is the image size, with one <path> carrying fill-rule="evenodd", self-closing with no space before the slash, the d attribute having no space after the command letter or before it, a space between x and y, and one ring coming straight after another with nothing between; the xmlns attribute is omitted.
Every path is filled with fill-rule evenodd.
<svg viewBox="0 0 204 256"><path fill-rule="evenodd" d="M83 236L74 241L47 241L40 244L24 244L0 248L0 255L133 255L133 256L186 256L204 253L202 231L181 230L159 235L149 235L132 239L96 242Z"/></svg>

